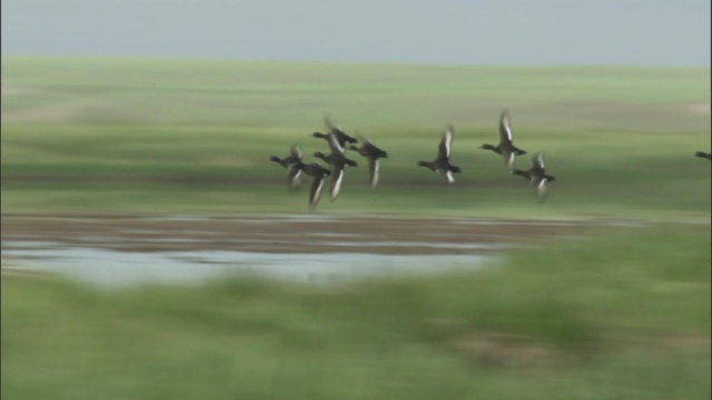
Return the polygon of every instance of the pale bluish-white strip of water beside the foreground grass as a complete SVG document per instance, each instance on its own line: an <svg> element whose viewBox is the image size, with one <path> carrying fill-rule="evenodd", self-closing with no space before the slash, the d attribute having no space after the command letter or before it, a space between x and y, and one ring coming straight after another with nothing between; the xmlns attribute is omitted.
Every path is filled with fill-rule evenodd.
<svg viewBox="0 0 712 400"><path fill-rule="evenodd" d="M334 283L358 277L481 268L493 258L484 254L267 253L227 250L130 252L38 241L3 241L2 253L11 259L26 260L20 263L31 264L32 271L57 272L102 287L189 284L245 274Z"/></svg>

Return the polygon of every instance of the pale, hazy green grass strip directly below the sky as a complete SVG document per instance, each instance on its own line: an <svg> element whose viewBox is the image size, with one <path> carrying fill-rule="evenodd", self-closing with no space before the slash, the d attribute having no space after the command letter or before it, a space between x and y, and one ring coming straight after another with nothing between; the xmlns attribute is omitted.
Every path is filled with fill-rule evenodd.
<svg viewBox="0 0 712 400"><path fill-rule="evenodd" d="M3 121L320 127L691 130L708 119L710 70L502 68L161 58L2 59Z"/></svg>

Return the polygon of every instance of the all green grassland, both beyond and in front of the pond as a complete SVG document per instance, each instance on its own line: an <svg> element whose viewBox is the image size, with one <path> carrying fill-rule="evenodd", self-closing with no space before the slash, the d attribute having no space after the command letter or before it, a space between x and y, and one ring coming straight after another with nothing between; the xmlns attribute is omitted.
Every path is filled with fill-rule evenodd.
<svg viewBox="0 0 712 400"><path fill-rule="evenodd" d="M709 399L709 88L710 69L3 57L4 214L307 213L267 158L324 150L330 114L390 158L372 190L354 154L317 213L646 228L346 288L3 276L2 396ZM504 107L556 177L544 203L478 148ZM453 186L416 167L448 123Z"/></svg>

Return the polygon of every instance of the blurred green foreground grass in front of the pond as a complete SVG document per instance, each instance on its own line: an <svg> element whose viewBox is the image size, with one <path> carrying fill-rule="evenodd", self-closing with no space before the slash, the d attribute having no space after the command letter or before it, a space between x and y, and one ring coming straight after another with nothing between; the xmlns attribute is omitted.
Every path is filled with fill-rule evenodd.
<svg viewBox="0 0 712 400"><path fill-rule="evenodd" d="M336 289L3 278L2 396L709 398L709 228L592 233Z"/></svg>

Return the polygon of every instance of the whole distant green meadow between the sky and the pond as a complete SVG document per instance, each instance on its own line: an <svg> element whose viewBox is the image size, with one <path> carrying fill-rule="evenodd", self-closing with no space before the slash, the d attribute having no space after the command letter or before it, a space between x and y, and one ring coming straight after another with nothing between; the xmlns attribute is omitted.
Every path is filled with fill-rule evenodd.
<svg viewBox="0 0 712 400"><path fill-rule="evenodd" d="M299 213L283 168L305 159L330 116L390 158L379 186L347 171L324 213L494 218L709 217L710 70L496 68L137 58L2 59L3 212ZM542 151L556 177L538 204L501 158L511 112L526 169ZM448 187L416 167L448 123Z"/></svg>

